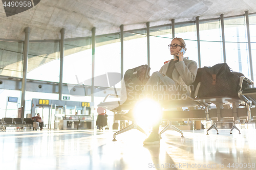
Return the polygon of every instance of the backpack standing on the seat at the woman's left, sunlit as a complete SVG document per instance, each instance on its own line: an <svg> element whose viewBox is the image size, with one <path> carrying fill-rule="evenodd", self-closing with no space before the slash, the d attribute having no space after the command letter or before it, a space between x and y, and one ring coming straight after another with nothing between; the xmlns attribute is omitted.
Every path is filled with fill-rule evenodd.
<svg viewBox="0 0 256 170"><path fill-rule="evenodd" d="M150 67L141 65L125 72L121 87L121 100L130 102L139 99L143 87L150 79Z"/></svg>

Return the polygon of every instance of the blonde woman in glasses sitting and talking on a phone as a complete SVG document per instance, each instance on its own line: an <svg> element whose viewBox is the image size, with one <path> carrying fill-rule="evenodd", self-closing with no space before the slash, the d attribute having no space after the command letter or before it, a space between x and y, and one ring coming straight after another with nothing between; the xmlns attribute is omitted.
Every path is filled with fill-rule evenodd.
<svg viewBox="0 0 256 170"><path fill-rule="evenodd" d="M197 75L197 63L193 60L188 60L183 57L186 51L186 44L182 38L174 38L172 43L168 45L170 54L174 56L168 63L165 63L160 71L153 72L150 79L145 84L142 96L156 101L181 99L182 96L190 96L190 87ZM153 87L153 88L152 88ZM157 90L155 87L157 87ZM169 87L173 87L172 89ZM156 95L157 94L157 95ZM161 94L162 99L159 99ZM157 96L157 99L156 99ZM168 98L166 98L166 96ZM122 118L134 120L134 110L131 109L128 113L122 115ZM153 132L143 142L143 144L159 144L159 126L161 119L153 125Z"/></svg>

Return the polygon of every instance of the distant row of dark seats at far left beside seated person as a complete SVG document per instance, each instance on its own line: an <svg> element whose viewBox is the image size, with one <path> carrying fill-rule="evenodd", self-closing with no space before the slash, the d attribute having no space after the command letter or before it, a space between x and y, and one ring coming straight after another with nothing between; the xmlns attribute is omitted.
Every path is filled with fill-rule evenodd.
<svg viewBox="0 0 256 170"><path fill-rule="evenodd" d="M6 130L6 127L15 127L23 129L24 127L33 127L33 120L31 118L11 118L3 117L0 122L0 129Z"/></svg>

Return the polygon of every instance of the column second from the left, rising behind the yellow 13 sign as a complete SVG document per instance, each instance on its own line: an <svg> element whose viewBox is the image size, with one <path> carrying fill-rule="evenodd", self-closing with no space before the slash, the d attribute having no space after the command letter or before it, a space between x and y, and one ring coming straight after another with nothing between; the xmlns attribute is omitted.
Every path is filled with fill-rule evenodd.
<svg viewBox="0 0 256 170"><path fill-rule="evenodd" d="M60 30L60 67L59 67L59 100L62 100L62 79L63 79L63 58L64 58L64 41L65 41L65 29Z"/></svg>

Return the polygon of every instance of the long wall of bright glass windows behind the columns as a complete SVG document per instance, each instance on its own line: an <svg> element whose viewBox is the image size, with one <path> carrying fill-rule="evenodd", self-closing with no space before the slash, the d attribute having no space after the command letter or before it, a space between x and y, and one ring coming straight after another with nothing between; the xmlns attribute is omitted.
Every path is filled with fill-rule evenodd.
<svg viewBox="0 0 256 170"><path fill-rule="evenodd" d="M254 79L256 78L256 14L249 15L251 54ZM248 37L245 16L224 17L226 62L233 71L250 76ZM150 64L151 74L159 71L170 56L167 45L172 41L171 25L150 28ZM219 19L199 20L200 55L198 61L198 39L195 21L175 23L175 37L181 37L186 42L187 51L184 55L201 66L213 66L223 63L223 42L221 21ZM120 33L96 36L95 48L95 77L106 72L123 72L127 69L147 64L146 29L124 31L123 68L121 68ZM77 84L92 78L92 38L76 38L65 40L65 57L63 59L63 83ZM0 75L22 78L24 42L0 41ZM29 43L29 60L27 79L59 82L59 41L34 41ZM91 85L91 81L85 85ZM95 84L95 86L98 86ZM100 86L100 85L99 85ZM116 85L120 87L120 83ZM8 95L20 96L20 91L9 90ZM6 98L5 90L0 93L1 100ZM13 94L13 95L12 95ZM41 93L29 96L45 98ZM57 99L58 94L54 94ZM49 96L49 95L47 95ZM90 96L81 98L70 96L72 101L91 101ZM103 96L102 96L103 97ZM97 99L96 99L97 98ZM20 99L20 98L19 98ZM6 100L6 99L4 99ZM103 98L95 97L95 106ZM114 100L114 99L113 99ZM3 108L1 115L3 116ZM11 113L12 114L12 113ZM13 113L13 115L15 115ZM0 115L0 116L1 116ZM11 116L11 115L10 115Z"/></svg>

